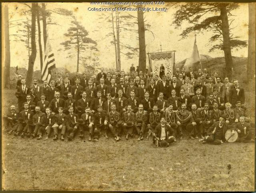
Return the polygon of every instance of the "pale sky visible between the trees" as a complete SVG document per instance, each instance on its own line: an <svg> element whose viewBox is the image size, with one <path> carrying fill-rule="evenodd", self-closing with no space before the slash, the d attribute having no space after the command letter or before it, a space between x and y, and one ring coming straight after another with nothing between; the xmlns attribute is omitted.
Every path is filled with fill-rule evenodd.
<svg viewBox="0 0 256 193"><path fill-rule="evenodd" d="M20 16L20 11L27 10L28 7L20 3L2 3L2 6L8 4L9 7L9 16L12 15L11 20L19 20L26 18L25 16ZM65 8L67 10L73 11L77 20L81 22L84 28L89 32L88 37L92 38L98 43L97 53L98 58L100 59L100 66L112 67L115 68L115 52L114 45L110 44L112 41L112 36L105 38L106 34L112 32L112 28L109 27L109 23L103 21L102 12L90 12L88 8L96 7L100 8L102 6L90 5L90 3L46 3L46 9L54 10L56 8ZM146 6L149 8L164 8L164 6ZM17 8L18 7L18 8ZM16 9L17 8L17 9ZM78 8L78 9L77 9ZM194 44L194 34L190 34L188 38L180 40L181 37L179 34L182 32L182 29L185 28L186 24L182 26L181 29L175 29L172 25L173 13L175 12L174 8L169 8L167 12L146 12L146 23L151 24L151 31L155 34L155 39L152 34L146 31L146 53L154 52L160 50L160 45L162 45L162 51L176 50L176 62L182 61L190 57L192 53L192 48ZM13 13L13 14L11 14ZM104 12L105 14L110 14L111 12ZM129 14L136 16L137 12L128 12ZM240 8L232 12L235 16L235 19L232 23L232 27L236 26L234 29L234 36L239 36L240 40L248 40L248 4L240 4ZM3 11L2 11L3 14ZM127 12L122 12L121 14L127 14ZM56 67L65 67L70 72L76 71L76 55L72 58L66 58L68 55L64 51L64 46L60 43L64 42L66 37L64 36L67 33L68 28L70 27L70 21L72 19L60 16L58 14L52 13L52 21L57 22L57 25L48 25L47 30L50 37L50 44L55 55ZM23 21L23 20L22 20ZM3 25L2 25L3 26ZM16 31L20 26L15 26L10 28L10 34L16 34ZM42 23L41 23L42 30ZM138 25L134 26L134 30L138 30ZM36 35L36 38L38 35ZM130 34L125 34L125 39L120 39L124 44L130 44L130 46L138 47L138 40L136 36L138 34L131 32ZM204 34L197 34L197 45L198 51L200 54L207 54L213 58L215 57L224 57L224 52L216 50L209 53L211 45L209 45L208 39L212 36L212 32L204 32ZM26 50L23 42L15 42L14 36L10 36L10 51L11 51L11 66L26 67L28 66L28 51ZM38 43L36 44L38 49ZM61 50L60 50L61 49ZM122 51L122 50L121 50ZM90 51L83 53L83 56L90 56ZM247 57L248 50L247 48L233 50L232 56L238 57ZM130 64L134 63L134 66L138 65L138 56L134 55L134 58L128 60L124 55L121 55L121 69L128 71ZM148 65L148 56L147 56L147 65ZM40 69L39 61L39 50L37 52L36 62L34 65L34 70ZM84 69L80 66L79 72L82 72Z"/></svg>

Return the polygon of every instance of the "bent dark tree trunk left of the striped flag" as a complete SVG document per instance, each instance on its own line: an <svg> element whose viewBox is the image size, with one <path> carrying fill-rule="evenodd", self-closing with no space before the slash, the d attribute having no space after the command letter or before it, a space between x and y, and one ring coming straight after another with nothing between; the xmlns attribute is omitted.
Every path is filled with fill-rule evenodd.
<svg viewBox="0 0 256 193"><path fill-rule="evenodd" d="M32 3L31 7L31 55L28 59L28 73L26 85L30 86L32 82L34 63L36 60L36 3Z"/></svg>

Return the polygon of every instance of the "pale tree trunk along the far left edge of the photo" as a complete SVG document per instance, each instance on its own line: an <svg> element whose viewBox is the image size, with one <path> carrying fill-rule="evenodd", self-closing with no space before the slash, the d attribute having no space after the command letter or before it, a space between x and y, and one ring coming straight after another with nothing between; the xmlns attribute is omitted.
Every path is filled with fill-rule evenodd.
<svg viewBox="0 0 256 193"><path fill-rule="evenodd" d="M4 6L4 88L10 88L10 37L9 37L9 12L8 5Z"/></svg>

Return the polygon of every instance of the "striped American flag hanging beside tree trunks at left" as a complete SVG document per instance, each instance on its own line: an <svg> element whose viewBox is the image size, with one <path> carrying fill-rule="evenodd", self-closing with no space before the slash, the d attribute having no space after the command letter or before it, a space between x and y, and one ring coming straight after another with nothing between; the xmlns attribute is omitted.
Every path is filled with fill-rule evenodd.
<svg viewBox="0 0 256 193"><path fill-rule="evenodd" d="M54 54L49 42L49 36L46 38L46 46L44 51L44 64L41 69L41 80L47 80L48 84L51 80L51 70L56 68Z"/></svg>

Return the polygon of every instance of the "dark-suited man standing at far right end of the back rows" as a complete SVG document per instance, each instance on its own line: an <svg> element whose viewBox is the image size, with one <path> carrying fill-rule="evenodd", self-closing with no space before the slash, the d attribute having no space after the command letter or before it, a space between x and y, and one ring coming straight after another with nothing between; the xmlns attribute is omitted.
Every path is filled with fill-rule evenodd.
<svg viewBox="0 0 256 193"><path fill-rule="evenodd" d="M236 106L236 101L241 101L244 104L245 97L244 97L244 89L239 87L238 80L234 80L234 87L231 88L229 94L229 101L232 104L232 107Z"/></svg>

